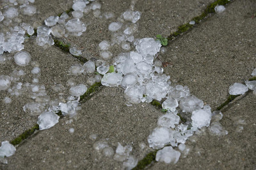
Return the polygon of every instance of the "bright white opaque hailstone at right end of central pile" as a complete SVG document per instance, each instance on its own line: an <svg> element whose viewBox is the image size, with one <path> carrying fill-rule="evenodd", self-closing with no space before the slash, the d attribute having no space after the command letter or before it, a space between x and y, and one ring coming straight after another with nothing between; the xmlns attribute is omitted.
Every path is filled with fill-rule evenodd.
<svg viewBox="0 0 256 170"><path fill-rule="evenodd" d="M211 108L208 105L205 105L203 109L193 111L191 116L193 127L201 129L204 126L209 126L211 116Z"/></svg>

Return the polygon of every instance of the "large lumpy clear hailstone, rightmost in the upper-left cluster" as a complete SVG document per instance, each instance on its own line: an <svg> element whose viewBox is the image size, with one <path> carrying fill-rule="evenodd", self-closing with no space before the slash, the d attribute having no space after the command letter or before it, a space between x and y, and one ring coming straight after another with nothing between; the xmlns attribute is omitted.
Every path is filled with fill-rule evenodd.
<svg viewBox="0 0 256 170"><path fill-rule="evenodd" d="M68 20L66 24L66 29L68 32L72 33L74 36L81 36L81 34L86 31L86 26L83 22L79 20L79 18L74 18Z"/></svg>

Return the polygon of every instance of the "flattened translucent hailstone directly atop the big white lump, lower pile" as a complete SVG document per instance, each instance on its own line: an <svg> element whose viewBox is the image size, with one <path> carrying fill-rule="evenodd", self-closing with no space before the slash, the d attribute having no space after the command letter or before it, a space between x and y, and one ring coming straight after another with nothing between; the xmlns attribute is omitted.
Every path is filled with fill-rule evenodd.
<svg viewBox="0 0 256 170"><path fill-rule="evenodd" d="M180 117L175 115L174 113L167 113L157 120L157 125L161 127L175 127L175 124L179 124Z"/></svg>

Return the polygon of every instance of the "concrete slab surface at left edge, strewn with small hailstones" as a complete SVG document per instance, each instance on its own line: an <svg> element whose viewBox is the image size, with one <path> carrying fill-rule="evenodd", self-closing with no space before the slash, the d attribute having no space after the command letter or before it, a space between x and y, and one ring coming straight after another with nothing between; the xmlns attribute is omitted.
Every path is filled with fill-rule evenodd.
<svg viewBox="0 0 256 170"><path fill-rule="evenodd" d="M40 76L38 76L39 84L45 86L47 95L50 96L51 99L60 99L59 101L65 102L64 99L67 98L69 89L69 87L66 85L68 79L76 78L77 83L86 82L86 76L68 75L68 69L70 66L79 64L79 61L72 57L72 55L63 53L55 46L43 49L34 43L35 39L33 38L28 39L28 41L24 43L24 50L31 54L31 62L29 66L17 66L13 60L14 54L4 53L4 56L10 57L10 60L0 67L0 74L10 75L10 73L12 73L12 71L15 69L17 71L22 69L25 75L20 77L20 80L17 82L21 82L23 85L25 83L32 83L33 78L36 78L37 76L31 74L31 70L33 69L31 63L38 62L41 69ZM54 92L54 90L52 90L53 85L60 83L63 85L63 87L65 87L62 94L61 92ZM17 83L12 83L11 87L15 85L17 85ZM3 103L2 99L4 99L4 97L10 97L12 99L12 103ZM11 141L15 137L19 136L22 132L30 129L36 124L38 115L30 115L29 113L25 113L22 109L25 104L33 101L35 101L35 99L28 97L27 92L24 92L24 94L20 96L11 96L6 90L1 90L0 141Z"/></svg>

